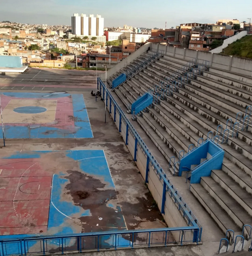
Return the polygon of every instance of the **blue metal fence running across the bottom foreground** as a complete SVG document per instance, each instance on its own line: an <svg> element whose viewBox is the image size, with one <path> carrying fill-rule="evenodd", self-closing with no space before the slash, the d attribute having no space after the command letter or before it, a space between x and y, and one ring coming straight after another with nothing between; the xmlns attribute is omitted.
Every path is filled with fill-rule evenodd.
<svg viewBox="0 0 252 256"><path fill-rule="evenodd" d="M64 236L40 236L25 239L1 240L1 256L71 253L100 251L103 249L167 246L174 244L173 233L177 233L177 243L191 242L190 234L195 228L163 228L148 230L125 230L113 232L93 232Z"/></svg>

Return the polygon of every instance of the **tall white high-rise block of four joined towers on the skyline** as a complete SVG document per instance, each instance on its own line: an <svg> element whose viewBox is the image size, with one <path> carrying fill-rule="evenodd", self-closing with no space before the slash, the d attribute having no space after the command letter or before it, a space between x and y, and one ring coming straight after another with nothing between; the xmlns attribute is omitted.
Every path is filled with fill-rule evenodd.
<svg viewBox="0 0 252 256"><path fill-rule="evenodd" d="M78 36L103 36L104 35L104 18L101 15L74 13L72 16L72 34Z"/></svg>

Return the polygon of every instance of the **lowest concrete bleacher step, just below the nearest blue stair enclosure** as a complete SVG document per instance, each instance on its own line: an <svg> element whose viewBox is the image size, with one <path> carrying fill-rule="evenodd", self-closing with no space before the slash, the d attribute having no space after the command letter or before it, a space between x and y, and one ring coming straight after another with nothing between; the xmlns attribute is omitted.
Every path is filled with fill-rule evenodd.
<svg viewBox="0 0 252 256"><path fill-rule="evenodd" d="M233 222L225 211L223 211L217 201L204 189L202 184L190 184L190 191L214 219L224 234L226 234L228 229L232 229L235 233L241 234L242 229Z"/></svg>

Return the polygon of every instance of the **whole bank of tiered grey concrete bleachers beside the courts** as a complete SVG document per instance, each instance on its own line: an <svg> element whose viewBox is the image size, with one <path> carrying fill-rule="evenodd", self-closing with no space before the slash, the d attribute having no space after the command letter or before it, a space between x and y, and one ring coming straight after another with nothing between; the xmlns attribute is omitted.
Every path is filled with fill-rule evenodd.
<svg viewBox="0 0 252 256"><path fill-rule="evenodd" d="M196 65L191 63L190 67ZM215 140L220 143L223 139L222 169L212 170L211 177L202 177L200 184L191 184L190 191L224 233L231 229L241 235L245 224L252 225L252 125L249 118L244 120L251 112L252 79L207 66L195 75L185 67L188 62L183 59L149 51L107 82L111 84L122 72L128 74L126 83L113 93L129 107L143 93L155 94L160 90L157 86L167 84L176 74L190 73L187 82L172 93L166 91L163 99L136 120L167 159L166 173L175 170L172 175L177 175L176 168L171 167L179 161L182 151L189 152L190 147L197 147L207 138L219 136ZM230 134L225 133L230 127ZM247 227L244 236L249 237ZM232 240L229 232L227 237Z"/></svg>

